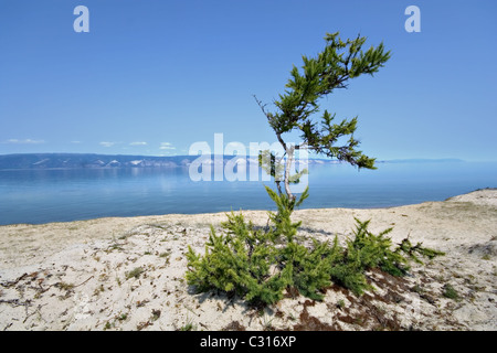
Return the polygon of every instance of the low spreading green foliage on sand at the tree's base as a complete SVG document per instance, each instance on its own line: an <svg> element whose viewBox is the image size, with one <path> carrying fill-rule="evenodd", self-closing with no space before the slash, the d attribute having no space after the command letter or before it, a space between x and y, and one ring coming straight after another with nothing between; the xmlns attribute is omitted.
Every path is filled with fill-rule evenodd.
<svg viewBox="0 0 497 353"><path fill-rule="evenodd" d="M421 244L413 247L409 240L392 250L392 240L387 237L391 228L374 235L368 231L370 221L357 218L355 237L345 247L339 246L337 237L332 244L313 238L313 245L306 247L296 238L300 222L293 223L290 215L307 197L307 191L298 201L290 201L285 194L266 190L278 210L269 212L266 229L232 212L221 224L223 234L218 235L211 227L203 256L189 247L187 281L198 291L218 289L251 302L271 304L290 288L320 300L324 289L335 281L360 296L371 289L366 270L379 268L393 276L404 276L409 266L401 253L415 260L419 258L414 253L430 258L443 254Z"/></svg>

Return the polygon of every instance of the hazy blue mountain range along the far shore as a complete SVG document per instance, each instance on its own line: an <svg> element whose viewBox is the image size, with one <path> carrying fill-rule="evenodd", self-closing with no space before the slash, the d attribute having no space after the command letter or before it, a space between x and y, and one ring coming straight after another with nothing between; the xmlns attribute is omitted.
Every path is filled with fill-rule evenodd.
<svg viewBox="0 0 497 353"><path fill-rule="evenodd" d="M77 168L180 168L188 167L199 156L109 156L92 153L23 153L0 154L0 170L7 169L77 169ZM234 156L223 156L223 164ZM244 159L243 157L239 157ZM214 158L212 157L212 161ZM257 159L248 158L250 163L257 163ZM393 160L389 162L454 162L456 159L444 160ZM385 162L385 161L380 161ZM335 164L336 160L309 159L308 164Z"/></svg>

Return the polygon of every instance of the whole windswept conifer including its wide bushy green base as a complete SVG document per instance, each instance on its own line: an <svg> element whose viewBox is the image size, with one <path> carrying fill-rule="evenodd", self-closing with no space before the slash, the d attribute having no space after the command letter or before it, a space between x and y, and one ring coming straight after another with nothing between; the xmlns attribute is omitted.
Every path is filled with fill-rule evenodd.
<svg viewBox="0 0 497 353"><path fill-rule="evenodd" d="M275 303L285 290L322 299L322 290L335 281L361 295L371 289L364 276L368 269L380 268L393 276L404 276L409 259L422 263L419 256L443 255L420 243L413 246L409 239L392 250L391 238L387 237L392 229L374 235L368 229L370 221L356 220L355 237L347 239L345 246L338 244L337 237L332 244L310 239L310 246L298 239L300 222L292 222L290 216L308 196L308 189L298 200L289 189L306 172L290 174L296 149L309 149L358 168L374 169L374 159L357 149L359 141L353 137L357 117L336 124L335 114L325 110L318 125L313 118L319 113L319 99L335 89L346 88L351 78L374 74L390 57L383 44L363 51L366 39L361 36L343 42L334 33L325 40L325 50L316 57L303 56L302 72L294 66L287 89L274 101L276 111L269 113L255 98L286 154L286 161L271 151L260 154L260 164L276 182L277 192L268 186L266 191L277 212L268 213L265 229L247 223L242 214L231 213L222 224L223 234L218 235L211 227L203 256L189 247L187 280L198 290L218 289L252 302ZM284 140L284 133L295 129L300 131L303 140L297 146ZM347 142L337 146L343 137L349 137Z"/></svg>

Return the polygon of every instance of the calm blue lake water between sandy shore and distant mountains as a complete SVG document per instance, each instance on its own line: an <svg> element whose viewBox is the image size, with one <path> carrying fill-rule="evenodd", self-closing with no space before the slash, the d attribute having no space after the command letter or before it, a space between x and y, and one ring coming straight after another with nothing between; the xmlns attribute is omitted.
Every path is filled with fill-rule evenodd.
<svg viewBox="0 0 497 353"><path fill-rule="evenodd" d="M304 207L384 207L497 188L497 162L315 165ZM271 182L265 182L273 186ZM192 182L188 169L0 171L0 224L274 210L262 182Z"/></svg>

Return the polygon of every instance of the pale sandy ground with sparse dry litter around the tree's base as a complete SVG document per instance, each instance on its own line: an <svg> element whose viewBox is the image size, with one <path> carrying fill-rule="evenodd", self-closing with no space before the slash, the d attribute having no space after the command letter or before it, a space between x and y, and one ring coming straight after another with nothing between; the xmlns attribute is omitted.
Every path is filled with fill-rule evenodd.
<svg viewBox="0 0 497 353"><path fill-rule="evenodd" d="M263 211L244 211L265 225ZM445 252L410 276L368 272L374 290L339 286L325 300L254 308L186 284L188 246L203 253L225 214L101 218L0 227L0 330L496 330L497 190L374 210L302 210L300 234L351 235L393 226L395 243ZM444 296L452 286L458 298Z"/></svg>

